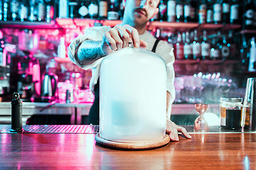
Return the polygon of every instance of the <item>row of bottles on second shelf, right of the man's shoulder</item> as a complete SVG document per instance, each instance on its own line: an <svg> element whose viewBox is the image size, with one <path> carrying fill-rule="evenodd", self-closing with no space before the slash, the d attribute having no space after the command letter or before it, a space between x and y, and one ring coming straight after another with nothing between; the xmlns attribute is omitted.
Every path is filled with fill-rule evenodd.
<svg viewBox="0 0 256 170"><path fill-rule="evenodd" d="M215 35L198 36L198 31L178 32L169 36L168 41L174 45L174 54L177 60L236 60L236 45L233 42L233 31L222 35L218 31Z"/></svg>

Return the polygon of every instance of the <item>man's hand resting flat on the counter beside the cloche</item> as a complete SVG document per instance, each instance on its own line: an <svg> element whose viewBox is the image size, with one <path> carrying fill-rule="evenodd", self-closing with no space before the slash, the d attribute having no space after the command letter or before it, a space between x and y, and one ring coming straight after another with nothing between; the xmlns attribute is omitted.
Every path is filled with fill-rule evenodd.
<svg viewBox="0 0 256 170"><path fill-rule="evenodd" d="M166 132L169 134L171 141L178 141L178 132L181 132L188 139L191 138L185 128L176 125L171 120L166 121Z"/></svg>

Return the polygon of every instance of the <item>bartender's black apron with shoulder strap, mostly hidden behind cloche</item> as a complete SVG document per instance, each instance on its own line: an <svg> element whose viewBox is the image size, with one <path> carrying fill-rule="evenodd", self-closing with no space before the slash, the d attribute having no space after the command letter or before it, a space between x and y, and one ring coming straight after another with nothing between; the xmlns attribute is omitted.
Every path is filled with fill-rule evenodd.
<svg viewBox="0 0 256 170"><path fill-rule="evenodd" d="M156 46L158 43L159 43L159 40L156 39L151 52L156 52ZM100 118L99 90L100 90L100 79L97 80L97 84L95 84L95 87L94 87L95 101L92 103L92 107L90 108L88 124L99 125L99 118Z"/></svg>

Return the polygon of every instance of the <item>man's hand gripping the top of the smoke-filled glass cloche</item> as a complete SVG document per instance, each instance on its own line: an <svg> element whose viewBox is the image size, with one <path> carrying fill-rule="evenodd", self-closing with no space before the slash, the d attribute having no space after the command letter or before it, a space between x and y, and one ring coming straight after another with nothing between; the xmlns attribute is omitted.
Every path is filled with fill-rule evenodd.
<svg viewBox="0 0 256 170"><path fill-rule="evenodd" d="M129 25L115 26L110 28L102 37L102 51L105 55L111 52L128 47L132 42L134 47L146 47L144 40L139 40L139 33L136 28Z"/></svg>

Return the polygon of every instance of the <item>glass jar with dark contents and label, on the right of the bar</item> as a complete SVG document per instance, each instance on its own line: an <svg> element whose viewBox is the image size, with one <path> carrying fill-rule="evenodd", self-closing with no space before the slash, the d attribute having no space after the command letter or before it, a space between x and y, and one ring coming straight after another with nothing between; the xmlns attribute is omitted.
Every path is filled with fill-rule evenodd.
<svg viewBox="0 0 256 170"><path fill-rule="evenodd" d="M220 127L225 130L240 130L242 98L220 98Z"/></svg>

